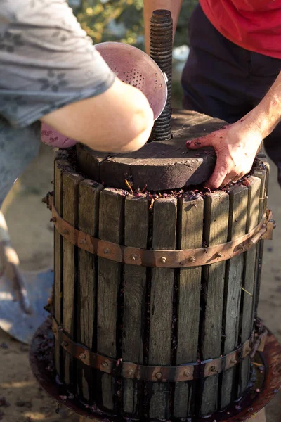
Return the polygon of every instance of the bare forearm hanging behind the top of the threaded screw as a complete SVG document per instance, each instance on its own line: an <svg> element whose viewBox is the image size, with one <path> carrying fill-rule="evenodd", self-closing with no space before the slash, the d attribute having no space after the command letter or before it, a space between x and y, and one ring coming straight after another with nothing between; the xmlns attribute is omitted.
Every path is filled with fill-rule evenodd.
<svg viewBox="0 0 281 422"><path fill-rule="evenodd" d="M150 18L153 11L157 9L166 9L171 11L171 17L174 23L174 34L178 24L178 15L181 11L183 0L143 0L143 18L145 23L145 51L150 54Z"/></svg>

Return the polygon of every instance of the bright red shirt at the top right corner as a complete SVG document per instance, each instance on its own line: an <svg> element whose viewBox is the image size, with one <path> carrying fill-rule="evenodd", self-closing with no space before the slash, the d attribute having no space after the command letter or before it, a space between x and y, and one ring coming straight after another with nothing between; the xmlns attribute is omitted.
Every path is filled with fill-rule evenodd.
<svg viewBox="0 0 281 422"><path fill-rule="evenodd" d="M281 59L281 0L200 0L216 30L244 49Z"/></svg>

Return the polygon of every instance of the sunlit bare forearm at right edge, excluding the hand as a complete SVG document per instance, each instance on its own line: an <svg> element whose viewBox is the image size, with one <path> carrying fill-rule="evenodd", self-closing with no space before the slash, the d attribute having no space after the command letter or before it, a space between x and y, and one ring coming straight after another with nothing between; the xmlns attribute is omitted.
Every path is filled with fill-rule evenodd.
<svg viewBox="0 0 281 422"><path fill-rule="evenodd" d="M281 121L281 72L266 96L249 114L261 130L263 138L273 132Z"/></svg>

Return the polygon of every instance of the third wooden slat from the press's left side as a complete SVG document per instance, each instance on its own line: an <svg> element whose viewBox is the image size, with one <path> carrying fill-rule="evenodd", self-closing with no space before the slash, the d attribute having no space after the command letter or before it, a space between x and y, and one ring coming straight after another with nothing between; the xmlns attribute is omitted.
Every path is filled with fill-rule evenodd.
<svg viewBox="0 0 281 422"><path fill-rule="evenodd" d="M98 209L103 186L91 180L79 184L79 230L98 237ZM77 341L93 350L93 327L96 314L97 259L86 250L79 249L79 286L77 291ZM96 334L96 333L95 333ZM96 351L96 350L94 350ZM79 393L90 400L92 372L83 364L78 366Z"/></svg>

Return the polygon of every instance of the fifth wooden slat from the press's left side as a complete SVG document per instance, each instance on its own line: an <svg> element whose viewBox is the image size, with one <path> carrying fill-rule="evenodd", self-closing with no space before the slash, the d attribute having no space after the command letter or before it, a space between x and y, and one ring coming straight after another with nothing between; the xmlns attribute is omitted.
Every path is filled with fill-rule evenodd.
<svg viewBox="0 0 281 422"><path fill-rule="evenodd" d="M149 201L129 196L125 200L125 245L146 249L148 245ZM145 323L145 267L124 265L124 335L125 361L143 363L143 325ZM143 417L143 382L124 379L124 412L132 418Z"/></svg>

